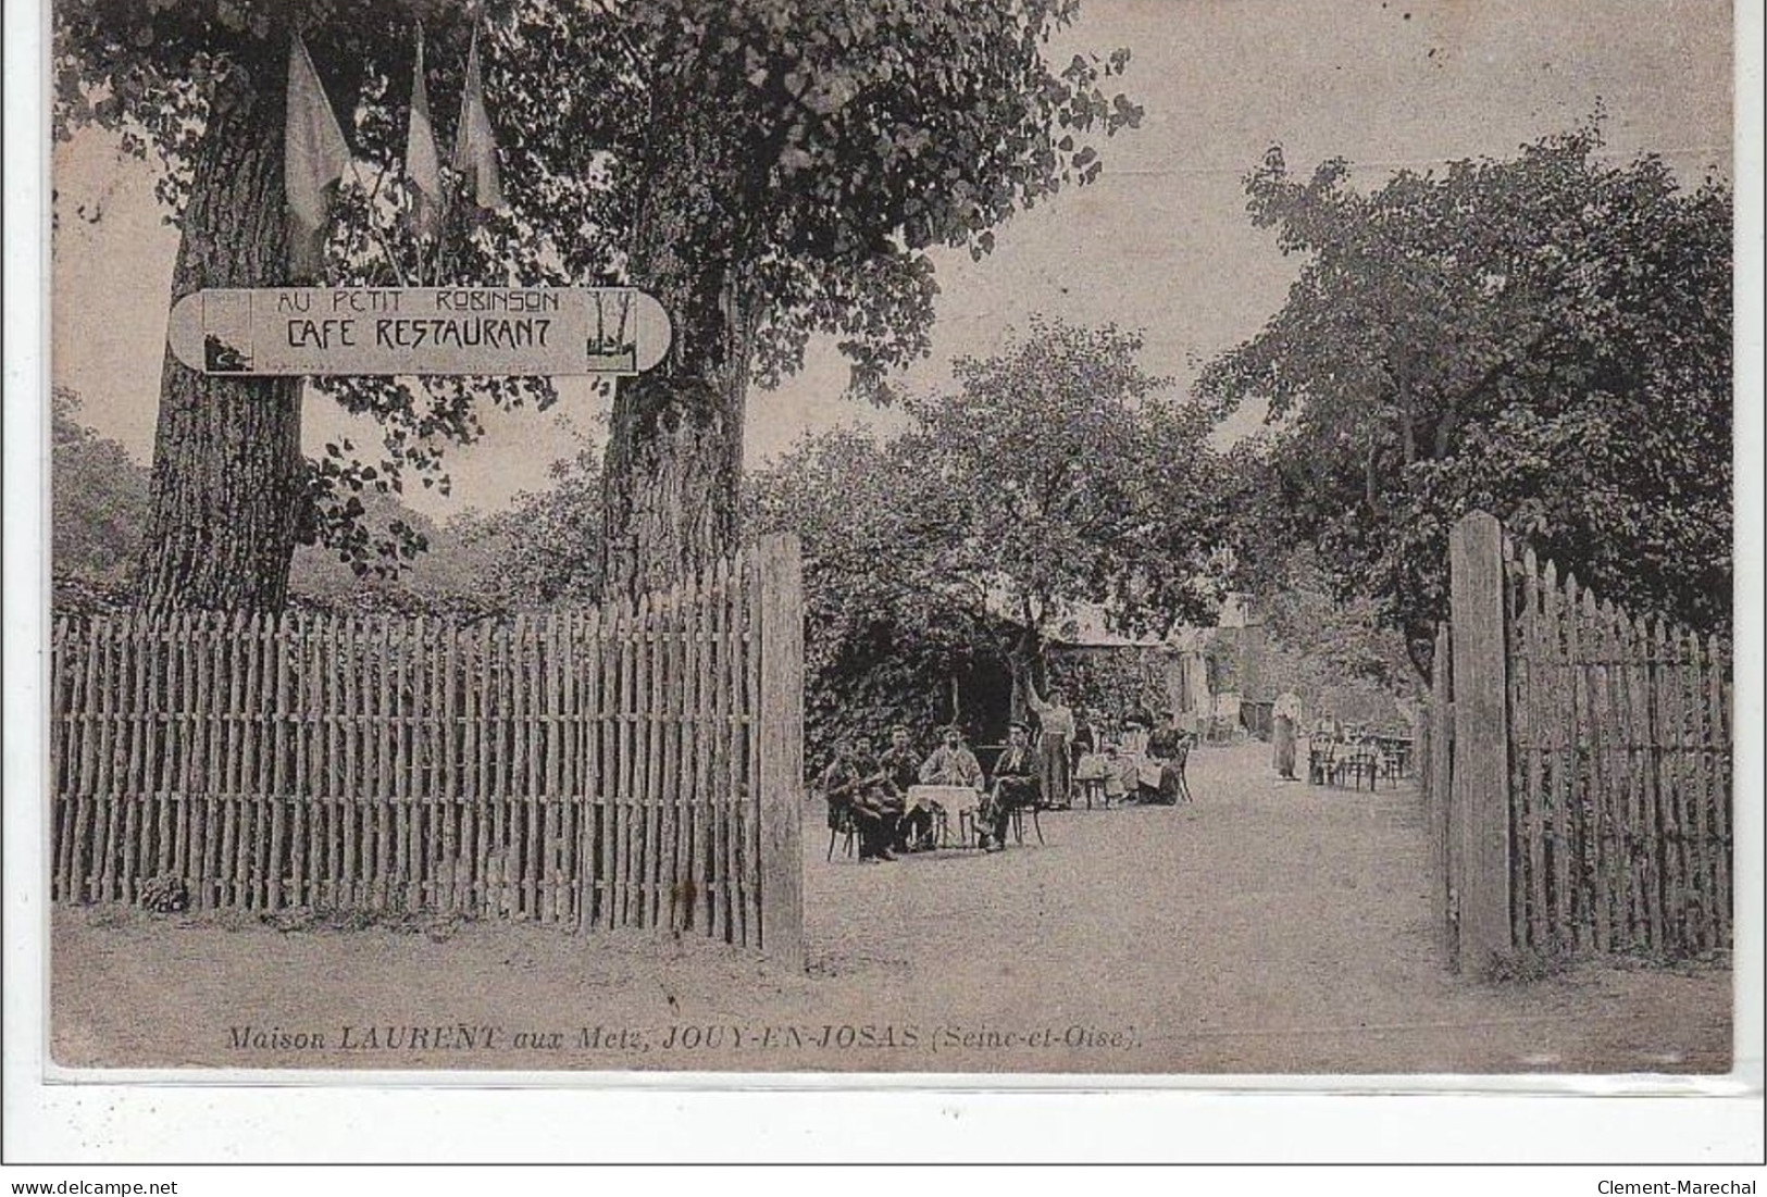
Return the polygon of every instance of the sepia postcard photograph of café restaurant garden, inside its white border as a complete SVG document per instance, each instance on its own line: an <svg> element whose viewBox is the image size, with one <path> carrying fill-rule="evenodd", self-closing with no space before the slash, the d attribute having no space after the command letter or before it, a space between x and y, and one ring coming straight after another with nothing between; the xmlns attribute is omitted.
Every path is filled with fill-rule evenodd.
<svg viewBox="0 0 1767 1197"><path fill-rule="evenodd" d="M49 25L60 1075L1732 1072L1730 5Z"/></svg>

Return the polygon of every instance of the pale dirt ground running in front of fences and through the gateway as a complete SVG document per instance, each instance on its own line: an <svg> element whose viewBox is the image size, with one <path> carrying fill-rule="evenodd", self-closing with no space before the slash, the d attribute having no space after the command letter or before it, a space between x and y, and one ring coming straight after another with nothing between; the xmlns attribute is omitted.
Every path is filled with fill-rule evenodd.
<svg viewBox="0 0 1767 1197"><path fill-rule="evenodd" d="M648 936L497 923L284 934L58 911L55 1056L240 1068L1728 1068L1728 969L1451 976L1417 794L1278 784L1267 759L1260 745L1198 752L1194 805L1048 814L1046 846L995 856L827 863L815 810L809 976ZM385 1029L369 1045L371 1026L428 1026L429 1045ZM470 1045L461 1026L475 1029ZM253 1031L235 1045L240 1028ZM258 1045L270 1028L309 1045ZM447 1049L435 1050L433 1028L449 1029ZM518 1033L546 1038L516 1047Z"/></svg>

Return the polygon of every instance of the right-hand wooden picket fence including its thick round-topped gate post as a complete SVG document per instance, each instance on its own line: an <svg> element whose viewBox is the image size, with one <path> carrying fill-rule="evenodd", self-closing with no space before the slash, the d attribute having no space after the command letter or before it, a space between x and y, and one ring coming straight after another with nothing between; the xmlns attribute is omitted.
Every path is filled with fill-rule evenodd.
<svg viewBox="0 0 1767 1197"><path fill-rule="evenodd" d="M1426 793L1456 962L1728 950L1726 646L1599 602L1477 512L1451 600Z"/></svg>

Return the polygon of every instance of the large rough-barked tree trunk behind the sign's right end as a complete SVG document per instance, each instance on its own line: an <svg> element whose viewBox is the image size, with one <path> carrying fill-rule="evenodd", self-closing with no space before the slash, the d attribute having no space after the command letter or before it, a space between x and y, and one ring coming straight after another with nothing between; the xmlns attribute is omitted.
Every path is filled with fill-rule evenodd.
<svg viewBox="0 0 1767 1197"><path fill-rule="evenodd" d="M668 357L622 381L603 480L603 591L670 586L737 547L742 418L755 314L728 249L716 244L710 136L680 134L640 212L633 282L668 309Z"/></svg>

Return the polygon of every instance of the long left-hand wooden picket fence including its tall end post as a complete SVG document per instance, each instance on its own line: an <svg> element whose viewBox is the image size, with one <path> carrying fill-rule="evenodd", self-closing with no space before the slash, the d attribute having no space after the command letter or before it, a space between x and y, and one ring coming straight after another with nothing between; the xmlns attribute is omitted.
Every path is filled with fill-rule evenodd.
<svg viewBox="0 0 1767 1197"><path fill-rule="evenodd" d="M802 597L774 537L477 625L62 620L58 902L444 911L802 952Z"/></svg>

